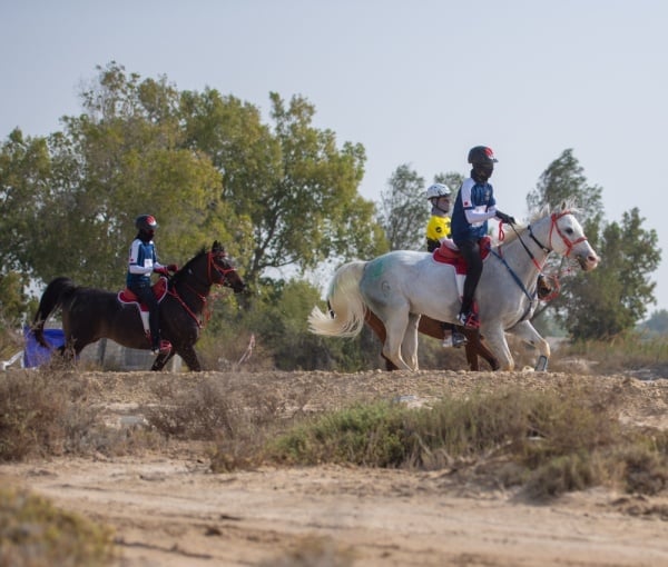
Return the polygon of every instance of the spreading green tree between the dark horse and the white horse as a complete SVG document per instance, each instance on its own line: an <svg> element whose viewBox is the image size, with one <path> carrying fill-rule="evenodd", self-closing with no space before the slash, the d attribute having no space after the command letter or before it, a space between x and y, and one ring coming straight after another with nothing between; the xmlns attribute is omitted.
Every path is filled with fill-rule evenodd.
<svg viewBox="0 0 668 567"><path fill-rule="evenodd" d="M361 145L336 146L313 126L315 108L302 97L271 93L271 126L257 108L215 90L183 96L187 143L205 151L223 177L223 195L252 239L243 241L246 279L269 268L314 268L332 256L374 256L382 246L374 205L357 193Z"/></svg>

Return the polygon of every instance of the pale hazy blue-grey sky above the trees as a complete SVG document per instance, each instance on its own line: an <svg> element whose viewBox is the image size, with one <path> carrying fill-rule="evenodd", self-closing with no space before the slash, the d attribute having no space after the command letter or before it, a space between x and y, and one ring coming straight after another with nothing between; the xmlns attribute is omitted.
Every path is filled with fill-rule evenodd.
<svg viewBox="0 0 668 567"><path fill-rule="evenodd" d="M665 0L0 0L0 137L61 130L116 61L267 122L269 92L305 97L316 127L364 146L376 202L397 167L466 175L484 145L499 209L522 219L572 149L608 221L637 207L657 231L651 315L668 309L667 21Z"/></svg>

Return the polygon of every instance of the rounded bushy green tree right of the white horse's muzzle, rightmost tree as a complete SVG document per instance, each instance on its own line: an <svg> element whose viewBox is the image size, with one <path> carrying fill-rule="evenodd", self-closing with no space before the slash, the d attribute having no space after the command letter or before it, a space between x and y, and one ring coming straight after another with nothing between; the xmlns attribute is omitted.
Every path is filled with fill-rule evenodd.
<svg viewBox="0 0 668 567"><path fill-rule="evenodd" d="M576 339L606 339L635 328L647 305L656 302L649 280L661 260L655 230L645 230L637 208L625 212L621 225L602 231L601 265L577 277L570 288L566 327Z"/></svg>

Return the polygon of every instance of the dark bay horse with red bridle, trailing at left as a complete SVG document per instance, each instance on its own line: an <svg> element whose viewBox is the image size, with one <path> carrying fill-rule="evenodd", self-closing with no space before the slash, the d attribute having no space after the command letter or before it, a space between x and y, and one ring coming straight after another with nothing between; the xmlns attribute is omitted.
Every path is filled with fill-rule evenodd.
<svg viewBox="0 0 668 567"><path fill-rule="evenodd" d="M179 355L190 370L202 370L194 345L199 339L203 314L214 285L229 287L236 294L245 287L218 241L209 251L199 251L169 279L160 302L160 330L173 348L156 358L151 370L161 370L174 355ZM62 311L66 342L59 350L65 356L78 356L102 337L125 347L150 348L136 304L122 304L117 292L76 286L65 277L47 286L35 316L35 337L47 348L50 347L43 338L45 322L57 309Z"/></svg>

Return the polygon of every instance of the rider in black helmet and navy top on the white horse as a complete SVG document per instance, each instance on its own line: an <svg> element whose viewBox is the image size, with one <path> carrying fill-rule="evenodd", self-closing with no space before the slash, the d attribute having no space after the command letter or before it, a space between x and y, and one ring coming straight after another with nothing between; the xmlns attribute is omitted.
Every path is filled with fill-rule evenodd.
<svg viewBox="0 0 668 567"><path fill-rule="evenodd" d="M480 239L488 232L488 219L497 217L514 225L515 219L497 210L494 189L488 182L498 160L487 146L475 146L469 151L471 177L464 179L454 201L452 212L452 239L466 260L466 279L462 307L458 320L465 327L478 328L478 312L473 297L482 273Z"/></svg>

